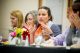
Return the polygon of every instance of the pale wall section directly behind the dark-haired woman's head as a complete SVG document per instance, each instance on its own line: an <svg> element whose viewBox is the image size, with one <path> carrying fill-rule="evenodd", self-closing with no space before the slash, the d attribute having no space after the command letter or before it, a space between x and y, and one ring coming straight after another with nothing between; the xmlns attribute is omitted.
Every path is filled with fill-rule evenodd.
<svg viewBox="0 0 80 53"><path fill-rule="evenodd" d="M62 24L63 0L43 0L43 6L51 9L54 23Z"/></svg>

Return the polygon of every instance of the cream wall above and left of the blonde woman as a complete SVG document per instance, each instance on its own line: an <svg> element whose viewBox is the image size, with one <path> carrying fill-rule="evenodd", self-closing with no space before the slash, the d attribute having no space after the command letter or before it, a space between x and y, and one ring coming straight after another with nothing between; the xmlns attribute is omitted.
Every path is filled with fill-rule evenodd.
<svg viewBox="0 0 80 53"><path fill-rule="evenodd" d="M0 0L0 33L4 38L8 36L11 28L10 12L19 9L24 16L28 11L37 10L38 0Z"/></svg>

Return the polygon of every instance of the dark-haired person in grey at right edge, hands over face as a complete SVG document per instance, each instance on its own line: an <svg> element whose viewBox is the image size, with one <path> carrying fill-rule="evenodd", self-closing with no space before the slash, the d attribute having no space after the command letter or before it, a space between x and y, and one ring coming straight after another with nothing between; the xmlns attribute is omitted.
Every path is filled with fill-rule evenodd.
<svg viewBox="0 0 80 53"><path fill-rule="evenodd" d="M73 37L80 37L80 0L75 0L72 8L68 12L68 20L71 25L69 33L66 37L66 43L68 46L72 45Z"/></svg>

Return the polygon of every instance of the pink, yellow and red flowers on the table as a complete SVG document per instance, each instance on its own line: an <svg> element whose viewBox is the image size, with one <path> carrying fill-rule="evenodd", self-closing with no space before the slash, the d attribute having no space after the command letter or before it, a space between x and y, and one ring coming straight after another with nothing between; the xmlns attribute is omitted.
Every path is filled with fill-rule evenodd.
<svg viewBox="0 0 80 53"><path fill-rule="evenodd" d="M12 39L14 39L15 37L21 39L21 40L26 40L27 36L28 36L28 42L30 43L30 34L28 29L25 28L16 28L15 31L10 33L10 36L12 37Z"/></svg>

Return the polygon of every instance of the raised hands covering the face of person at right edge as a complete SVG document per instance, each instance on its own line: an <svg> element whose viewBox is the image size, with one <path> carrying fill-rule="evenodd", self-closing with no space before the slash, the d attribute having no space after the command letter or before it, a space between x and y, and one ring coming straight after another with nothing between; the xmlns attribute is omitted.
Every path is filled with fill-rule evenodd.
<svg viewBox="0 0 80 53"><path fill-rule="evenodd" d="M75 25L76 28L80 29L80 18L77 13L74 13L72 8L68 9L68 19L71 25Z"/></svg>

